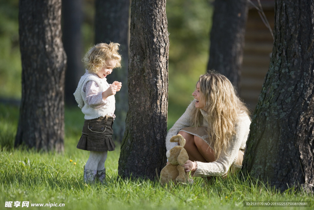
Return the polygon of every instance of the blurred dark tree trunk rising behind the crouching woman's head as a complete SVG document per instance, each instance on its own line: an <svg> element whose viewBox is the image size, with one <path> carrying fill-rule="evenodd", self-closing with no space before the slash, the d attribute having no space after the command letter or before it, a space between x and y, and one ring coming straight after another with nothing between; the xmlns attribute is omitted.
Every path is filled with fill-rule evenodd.
<svg viewBox="0 0 314 210"><path fill-rule="evenodd" d="M215 0L207 70L225 75L240 92L247 0Z"/></svg>

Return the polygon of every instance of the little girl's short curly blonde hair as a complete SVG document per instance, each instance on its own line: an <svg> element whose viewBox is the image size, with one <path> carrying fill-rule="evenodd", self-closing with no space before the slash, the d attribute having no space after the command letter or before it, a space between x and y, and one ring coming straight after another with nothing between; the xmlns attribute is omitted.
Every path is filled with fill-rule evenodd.
<svg viewBox="0 0 314 210"><path fill-rule="evenodd" d="M89 73L97 73L106 65L107 60L115 60L117 62L115 68L121 67L121 55L118 53L119 43L98 43L89 48L83 58L85 67Z"/></svg>

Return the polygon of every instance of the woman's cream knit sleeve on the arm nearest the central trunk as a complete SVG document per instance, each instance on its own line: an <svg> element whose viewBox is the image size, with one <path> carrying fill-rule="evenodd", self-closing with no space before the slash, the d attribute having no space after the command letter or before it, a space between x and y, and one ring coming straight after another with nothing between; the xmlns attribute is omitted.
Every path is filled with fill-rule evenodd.
<svg viewBox="0 0 314 210"><path fill-rule="evenodd" d="M177 146L178 143L170 142L172 136L175 136L179 133L182 128L191 127L191 116L192 108L195 106L195 100L187 107L183 115L176 121L176 123L169 129L166 136L166 149L171 150L174 146Z"/></svg>

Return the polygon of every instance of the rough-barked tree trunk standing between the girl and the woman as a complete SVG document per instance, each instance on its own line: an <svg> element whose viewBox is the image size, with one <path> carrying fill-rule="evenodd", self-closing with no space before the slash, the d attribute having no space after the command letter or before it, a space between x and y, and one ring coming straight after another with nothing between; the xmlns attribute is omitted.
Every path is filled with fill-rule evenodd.
<svg viewBox="0 0 314 210"><path fill-rule="evenodd" d="M121 145L121 177L154 179L165 166L169 39L166 0L133 0L129 110Z"/></svg>

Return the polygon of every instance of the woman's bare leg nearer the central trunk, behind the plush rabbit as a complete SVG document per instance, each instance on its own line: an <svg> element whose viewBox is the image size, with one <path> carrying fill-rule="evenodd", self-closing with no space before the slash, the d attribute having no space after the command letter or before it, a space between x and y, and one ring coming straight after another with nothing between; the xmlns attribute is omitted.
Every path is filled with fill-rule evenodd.
<svg viewBox="0 0 314 210"><path fill-rule="evenodd" d="M186 140L186 143L184 145L184 149L187 150L187 154L189 156L190 161L207 162L207 160L199 152L198 147L195 145L195 142L194 142L195 136L194 135L192 135L190 133L186 133L184 131L180 131L178 134L181 134L183 136L183 138Z"/></svg>

